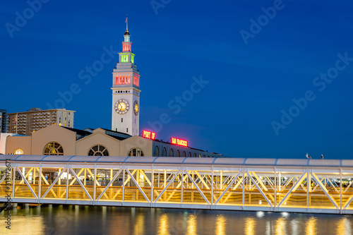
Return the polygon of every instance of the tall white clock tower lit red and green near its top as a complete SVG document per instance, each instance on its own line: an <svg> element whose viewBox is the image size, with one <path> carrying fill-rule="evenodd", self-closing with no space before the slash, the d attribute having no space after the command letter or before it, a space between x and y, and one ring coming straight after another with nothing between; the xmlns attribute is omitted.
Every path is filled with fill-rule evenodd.
<svg viewBox="0 0 353 235"><path fill-rule="evenodd" d="M133 63L130 34L126 17L126 32L119 62L113 70L112 130L139 135L140 73Z"/></svg>

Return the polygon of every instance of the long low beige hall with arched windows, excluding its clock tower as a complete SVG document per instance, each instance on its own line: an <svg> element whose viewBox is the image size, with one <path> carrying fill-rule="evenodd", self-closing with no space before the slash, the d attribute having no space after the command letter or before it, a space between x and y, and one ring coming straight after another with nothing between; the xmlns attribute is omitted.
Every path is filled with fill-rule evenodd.
<svg viewBox="0 0 353 235"><path fill-rule="evenodd" d="M85 131L86 130L86 131ZM2 136L0 153L6 155L79 155L131 157L224 157L213 152L182 147L139 135L103 128L78 130L47 126L30 136Z"/></svg>

